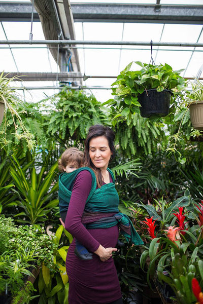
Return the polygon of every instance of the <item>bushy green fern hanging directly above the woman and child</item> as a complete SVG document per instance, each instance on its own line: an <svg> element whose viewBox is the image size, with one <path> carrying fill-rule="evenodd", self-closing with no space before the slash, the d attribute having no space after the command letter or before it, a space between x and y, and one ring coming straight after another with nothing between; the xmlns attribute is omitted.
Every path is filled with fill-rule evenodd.
<svg viewBox="0 0 203 304"><path fill-rule="evenodd" d="M101 103L85 91L64 87L59 93L42 100L38 106L44 113L47 132L66 146L81 142L91 125L109 125Z"/></svg>

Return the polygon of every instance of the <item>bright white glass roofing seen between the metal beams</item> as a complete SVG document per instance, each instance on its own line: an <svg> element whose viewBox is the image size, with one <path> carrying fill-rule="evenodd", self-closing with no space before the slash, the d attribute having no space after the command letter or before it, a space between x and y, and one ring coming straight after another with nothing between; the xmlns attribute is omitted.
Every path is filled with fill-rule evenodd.
<svg viewBox="0 0 203 304"><path fill-rule="evenodd" d="M2 0L0 0L2 2ZM17 0L7 2L18 2ZM27 0L21 2L28 2ZM71 3L81 3L74 0ZM85 0L86 3L118 4L156 4L156 0ZM82 2L82 3L84 3ZM29 2L28 2L29 3ZM203 5L203 0L161 0L160 4ZM31 17L30 17L31 19ZM2 22L1 40L29 40L30 22ZM5 31L5 32L4 32ZM33 22L33 40L45 40L40 22ZM136 41L136 42L187 42L203 43L202 25L195 24L161 24L161 23L115 23L115 22L77 22L75 23L76 40L91 41ZM5 36L6 33L6 36ZM46 45L8 45L0 46L0 69L6 72L57 72L57 65ZM12 50L12 51L11 51ZM156 47L153 46L153 59L156 64L168 63L174 69L187 68L185 77L194 77L203 64L203 48ZM89 76L116 77L131 61L148 63L151 59L150 46L114 46L114 45L78 45L82 74ZM139 69L139 66L135 65ZM59 70L58 70L59 71ZM203 77L203 75L201 75ZM92 87L110 87L113 78L89 78L83 85ZM54 87L54 82L23 82L26 87ZM30 93L31 95L30 95ZM40 100L45 94L51 95L57 90L30 90L26 98ZM100 101L111 98L110 90L93 90Z"/></svg>

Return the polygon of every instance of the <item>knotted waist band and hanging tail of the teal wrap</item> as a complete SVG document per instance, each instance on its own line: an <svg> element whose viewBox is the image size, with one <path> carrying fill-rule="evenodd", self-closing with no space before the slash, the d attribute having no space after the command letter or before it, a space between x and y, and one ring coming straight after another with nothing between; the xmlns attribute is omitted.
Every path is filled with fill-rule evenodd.
<svg viewBox="0 0 203 304"><path fill-rule="evenodd" d="M131 241L134 245L143 245L143 241L140 238L137 231L134 229L134 226L129 219L129 217L124 213L116 213L114 216L105 217L100 220L94 221L92 223L86 224L87 229L98 229L98 228L110 228L115 225L119 225L121 228L121 233L125 237L126 241ZM130 227L130 234L125 231L128 231Z"/></svg>

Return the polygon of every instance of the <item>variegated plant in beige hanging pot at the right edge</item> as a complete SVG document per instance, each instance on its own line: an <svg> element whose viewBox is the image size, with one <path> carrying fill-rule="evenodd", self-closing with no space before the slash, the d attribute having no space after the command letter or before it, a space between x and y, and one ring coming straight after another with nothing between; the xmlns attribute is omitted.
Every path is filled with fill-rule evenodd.
<svg viewBox="0 0 203 304"><path fill-rule="evenodd" d="M186 100L189 102L190 120L196 130L203 130L203 83L195 80L191 83L192 91L187 91Z"/></svg>

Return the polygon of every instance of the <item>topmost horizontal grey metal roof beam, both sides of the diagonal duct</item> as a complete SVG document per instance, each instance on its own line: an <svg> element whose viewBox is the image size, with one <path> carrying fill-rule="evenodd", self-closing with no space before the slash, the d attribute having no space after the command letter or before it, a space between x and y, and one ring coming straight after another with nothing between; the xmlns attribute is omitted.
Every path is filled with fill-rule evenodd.
<svg viewBox="0 0 203 304"><path fill-rule="evenodd" d="M31 3L0 3L0 21L30 21ZM71 4L75 22L203 23L202 5ZM39 21L34 11L33 20Z"/></svg>

